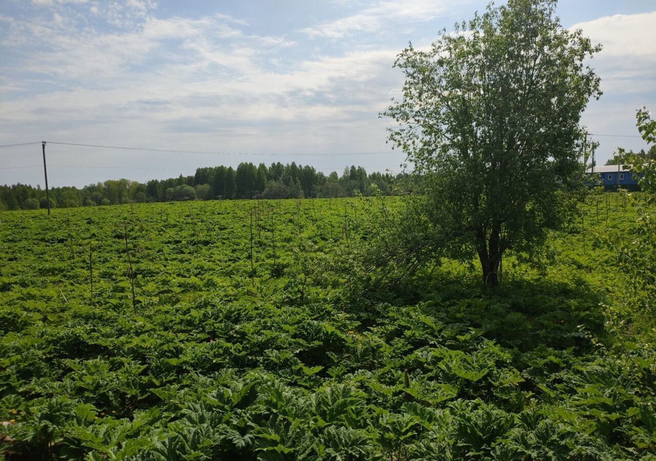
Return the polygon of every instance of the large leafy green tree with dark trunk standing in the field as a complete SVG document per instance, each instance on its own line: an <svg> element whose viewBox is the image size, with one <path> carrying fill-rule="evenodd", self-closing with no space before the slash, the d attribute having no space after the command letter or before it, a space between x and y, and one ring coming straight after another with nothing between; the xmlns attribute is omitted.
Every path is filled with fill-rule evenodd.
<svg viewBox="0 0 656 461"><path fill-rule="evenodd" d="M581 165L598 52L565 30L556 0L509 0L441 31L430 50L410 45L395 66L403 98L390 141L424 175L426 213L447 255L478 254L483 283L497 285L502 254L531 249L562 223L561 190Z"/></svg>

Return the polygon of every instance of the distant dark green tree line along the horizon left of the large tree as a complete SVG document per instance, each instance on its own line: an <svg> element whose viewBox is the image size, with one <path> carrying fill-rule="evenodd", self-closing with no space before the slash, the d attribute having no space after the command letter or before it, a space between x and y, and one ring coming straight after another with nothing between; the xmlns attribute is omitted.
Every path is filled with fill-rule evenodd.
<svg viewBox="0 0 656 461"><path fill-rule="evenodd" d="M287 199L314 197L351 197L371 195L374 190L392 193L398 176L375 172L367 174L363 167L346 167L342 175L328 176L296 163L240 163L232 167L204 167L192 176L150 180L146 184L127 179L107 180L75 187L52 188L51 208L117 205L131 202L164 202L211 199ZM45 190L25 184L0 186L0 209L21 210L47 207Z"/></svg>

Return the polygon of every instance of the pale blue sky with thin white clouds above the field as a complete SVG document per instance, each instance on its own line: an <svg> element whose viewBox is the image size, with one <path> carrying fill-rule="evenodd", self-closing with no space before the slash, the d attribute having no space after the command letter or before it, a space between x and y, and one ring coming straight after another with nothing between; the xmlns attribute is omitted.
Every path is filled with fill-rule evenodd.
<svg viewBox="0 0 656 461"><path fill-rule="evenodd" d="M396 55L487 3L1 0L0 144L210 152L47 144L51 186L242 161L400 172L379 117L401 94ZM560 0L558 15L604 45L592 60L604 95L583 116L598 164L644 147L635 112L656 110L656 0ZM43 187L41 144L0 149L0 184L17 182Z"/></svg>

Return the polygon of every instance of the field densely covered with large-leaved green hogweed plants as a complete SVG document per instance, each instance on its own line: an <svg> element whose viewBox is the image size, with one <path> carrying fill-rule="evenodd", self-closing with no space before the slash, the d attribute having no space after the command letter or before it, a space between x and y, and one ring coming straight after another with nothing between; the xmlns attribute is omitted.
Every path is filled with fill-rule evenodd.
<svg viewBox="0 0 656 461"><path fill-rule="evenodd" d="M592 197L492 293L447 260L363 293L380 201L1 214L0 458L656 460L630 203Z"/></svg>

